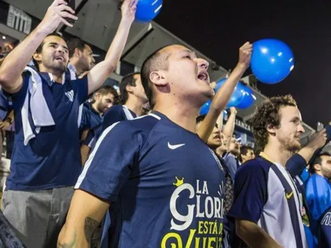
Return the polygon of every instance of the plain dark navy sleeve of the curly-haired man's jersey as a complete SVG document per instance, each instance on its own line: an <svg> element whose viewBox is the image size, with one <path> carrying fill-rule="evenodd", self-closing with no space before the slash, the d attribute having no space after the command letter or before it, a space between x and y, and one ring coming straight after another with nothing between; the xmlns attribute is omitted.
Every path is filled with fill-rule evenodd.
<svg viewBox="0 0 331 248"><path fill-rule="evenodd" d="M267 174L258 162L250 161L240 167L235 176L234 201L228 213L234 218L257 223L267 202Z"/></svg>

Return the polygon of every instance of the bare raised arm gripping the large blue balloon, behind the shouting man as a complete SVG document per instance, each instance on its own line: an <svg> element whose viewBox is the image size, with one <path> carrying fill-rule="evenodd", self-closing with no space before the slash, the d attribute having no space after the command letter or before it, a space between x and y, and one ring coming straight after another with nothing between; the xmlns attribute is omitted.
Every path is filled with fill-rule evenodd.
<svg viewBox="0 0 331 248"><path fill-rule="evenodd" d="M199 137L201 140L204 140L204 142L207 142L209 135L211 135L211 132L215 127L216 120L218 116L220 116L220 112L225 109L225 106L229 101L237 82L249 67L251 63L252 49L252 45L249 42L246 42L242 47L240 47L239 62L237 63L237 66L232 71L230 77L227 78L224 85L218 89L218 92L213 98L207 116L204 118L199 130L197 131Z"/></svg>

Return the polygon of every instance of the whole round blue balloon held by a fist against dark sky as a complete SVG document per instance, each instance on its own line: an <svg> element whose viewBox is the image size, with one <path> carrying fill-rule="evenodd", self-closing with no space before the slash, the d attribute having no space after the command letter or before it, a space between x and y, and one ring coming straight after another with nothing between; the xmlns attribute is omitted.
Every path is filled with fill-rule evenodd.
<svg viewBox="0 0 331 248"><path fill-rule="evenodd" d="M277 39L254 42L251 70L259 81L276 84L284 80L293 68L294 56L287 44Z"/></svg>

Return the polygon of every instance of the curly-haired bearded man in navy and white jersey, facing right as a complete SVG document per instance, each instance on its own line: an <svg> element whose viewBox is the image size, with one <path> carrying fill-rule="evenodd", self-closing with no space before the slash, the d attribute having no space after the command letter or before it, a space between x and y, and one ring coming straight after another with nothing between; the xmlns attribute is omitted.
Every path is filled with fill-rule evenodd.
<svg viewBox="0 0 331 248"><path fill-rule="evenodd" d="M300 188L285 165L301 147L301 114L292 96L272 97L253 118L256 159L235 177L235 199L229 216L249 247L307 247L306 207Z"/></svg>

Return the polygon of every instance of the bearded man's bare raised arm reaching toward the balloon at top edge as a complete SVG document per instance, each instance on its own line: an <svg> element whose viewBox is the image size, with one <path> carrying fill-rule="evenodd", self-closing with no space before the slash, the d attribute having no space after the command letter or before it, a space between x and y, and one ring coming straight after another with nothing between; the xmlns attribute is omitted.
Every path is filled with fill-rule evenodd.
<svg viewBox="0 0 331 248"><path fill-rule="evenodd" d="M127 37L129 36L130 27L133 20L135 20L137 2L138 0L124 1L121 7L122 19L120 20L120 25L118 26L113 42L111 42L105 60L94 66L94 68L92 68L87 74L89 94L101 87L107 77L113 73L118 65L118 61L120 61L120 56L122 55L127 42Z"/></svg>

